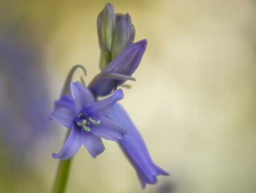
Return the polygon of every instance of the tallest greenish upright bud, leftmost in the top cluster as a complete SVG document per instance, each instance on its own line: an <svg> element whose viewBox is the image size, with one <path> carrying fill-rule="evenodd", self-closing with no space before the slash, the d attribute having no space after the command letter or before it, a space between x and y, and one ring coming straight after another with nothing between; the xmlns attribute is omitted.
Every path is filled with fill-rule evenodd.
<svg viewBox="0 0 256 193"><path fill-rule="evenodd" d="M111 52L115 28L115 8L111 3L107 3L97 18L97 32L102 51Z"/></svg>

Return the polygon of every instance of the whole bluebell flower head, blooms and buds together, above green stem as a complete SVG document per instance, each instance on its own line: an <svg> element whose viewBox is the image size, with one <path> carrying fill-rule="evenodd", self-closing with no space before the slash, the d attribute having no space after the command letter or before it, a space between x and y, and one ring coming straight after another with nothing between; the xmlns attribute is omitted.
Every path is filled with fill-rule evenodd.
<svg viewBox="0 0 256 193"><path fill-rule="evenodd" d="M134 43L135 27L129 13L115 14L111 3L107 3L97 17L97 34L101 72L86 87L83 76L81 82L72 82L77 68L81 68L86 76L83 66L73 66L59 100L54 102L54 111L48 116L70 131L67 132L65 145L52 157L70 159L84 145L89 154L96 158L105 151L102 138L115 141L134 167L142 189L145 189L146 184L157 183L157 176L169 176L169 173L152 161L139 131L117 103L124 98L124 92L117 87L129 87L124 85L127 80L136 81L131 76L140 65L147 40ZM100 100L101 97L105 98ZM67 163L70 164L70 161ZM69 164L60 164L59 171L66 169ZM67 175L64 176L67 179Z"/></svg>

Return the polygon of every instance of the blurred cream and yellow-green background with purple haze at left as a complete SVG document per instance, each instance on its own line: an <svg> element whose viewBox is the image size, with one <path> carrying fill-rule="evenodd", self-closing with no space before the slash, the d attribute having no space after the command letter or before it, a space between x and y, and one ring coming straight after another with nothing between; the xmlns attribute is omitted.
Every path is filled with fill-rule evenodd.
<svg viewBox="0 0 256 193"><path fill-rule="evenodd" d="M0 192L50 192L66 128L48 120L68 70L99 72L107 1L0 1ZM170 172L146 192L256 192L256 2L112 1L147 50L122 105ZM77 77L81 72L77 71ZM67 192L141 192L115 142L82 147Z"/></svg>

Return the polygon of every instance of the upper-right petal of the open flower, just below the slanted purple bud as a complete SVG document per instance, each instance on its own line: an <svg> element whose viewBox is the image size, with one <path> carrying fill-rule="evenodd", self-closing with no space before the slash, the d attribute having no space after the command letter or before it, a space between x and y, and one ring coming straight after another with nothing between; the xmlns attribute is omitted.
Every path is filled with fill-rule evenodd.
<svg viewBox="0 0 256 193"><path fill-rule="evenodd" d="M124 98L124 92L119 89L113 95L96 102L91 111L105 117L111 111L112 106L122 98Z"/></svg>

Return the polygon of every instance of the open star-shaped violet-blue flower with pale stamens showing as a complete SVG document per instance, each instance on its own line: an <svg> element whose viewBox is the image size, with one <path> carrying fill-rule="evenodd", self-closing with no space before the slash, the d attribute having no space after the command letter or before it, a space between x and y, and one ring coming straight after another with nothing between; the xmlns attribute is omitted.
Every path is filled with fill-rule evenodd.
<svg viewBox="0 0 256 193"><path fill-rule="evenodd" d="M80 82L72 83L73 97L63 95L55 101L55 111L49 116L67 128L71 128L70 136L58 152L52 154L54 159L69 159L74 156L83 144L93 158L104 152L105 147L101 138L119 141L127 130L105 116L112 106L122 98L121 89L113 95L95 102L90 91Z"/></svg>

